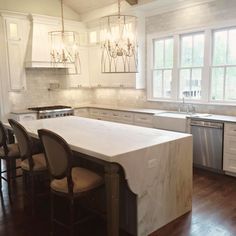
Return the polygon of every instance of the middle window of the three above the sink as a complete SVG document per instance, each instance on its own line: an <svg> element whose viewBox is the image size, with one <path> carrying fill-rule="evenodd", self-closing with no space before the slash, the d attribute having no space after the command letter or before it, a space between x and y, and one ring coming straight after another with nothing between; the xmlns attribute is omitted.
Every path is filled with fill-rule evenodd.
<svg viewBox="0 0 236 236"><path fill-rule="evenodd" d="M201 99L204 66L204 33L181 36L179 97Z"/></svg>

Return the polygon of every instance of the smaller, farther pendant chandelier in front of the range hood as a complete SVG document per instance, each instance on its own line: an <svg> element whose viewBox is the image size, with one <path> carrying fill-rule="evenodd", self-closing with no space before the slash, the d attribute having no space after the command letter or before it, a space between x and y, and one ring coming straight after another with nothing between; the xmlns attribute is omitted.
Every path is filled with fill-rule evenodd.
<svg viewBox="0 0 236 236"><path fill-rule="evenodd" d="M80 58L76 33L65 31L63 0L61 0L61 31L49 32L51 39L51 64L56 68L68 68L73 74L80 73Z"/></svg>

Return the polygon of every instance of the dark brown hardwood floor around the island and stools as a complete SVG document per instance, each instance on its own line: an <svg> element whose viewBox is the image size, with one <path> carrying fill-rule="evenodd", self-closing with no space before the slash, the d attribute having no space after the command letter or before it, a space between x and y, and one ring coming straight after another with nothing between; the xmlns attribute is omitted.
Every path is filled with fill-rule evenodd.
<svg viewBox="0 0 236 236"><path fill-rule="evenodd" d="M17 180L18 181L18 180ZM14 185L12 203L3 185L0 206L1 236L50 235L49 201L40 202L37 216L23 207L21 182ZM59 229L59 228L58 228ZM57 235L67 235L62 229ZM80 227L81 236L105 236L105 223L94 219ZM77 235L77 234L76 234ZM121 233L125 236L125 233ZM194 170L193 211L161 228L152 236L228 236L236 235L236 178Z"/></svg>

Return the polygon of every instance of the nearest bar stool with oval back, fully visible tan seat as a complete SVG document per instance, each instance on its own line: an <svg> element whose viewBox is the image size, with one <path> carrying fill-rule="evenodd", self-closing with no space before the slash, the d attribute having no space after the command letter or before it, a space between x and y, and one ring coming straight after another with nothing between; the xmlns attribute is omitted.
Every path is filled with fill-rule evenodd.
<svg viewBox="0 0 236 236"><path fill-rule="evenodd" d="M72 166L72 151L67 142L59 135L49 130L38 130L43 144L48 170L51 176L51 224L54 233L54 223L63 225L74 235L74 225L80 223L74 219L74 201L96 190L103 184L103 178L98 174L81 167ZM59 195L69 201L69 226L54 218L53 195Z"/></svg>

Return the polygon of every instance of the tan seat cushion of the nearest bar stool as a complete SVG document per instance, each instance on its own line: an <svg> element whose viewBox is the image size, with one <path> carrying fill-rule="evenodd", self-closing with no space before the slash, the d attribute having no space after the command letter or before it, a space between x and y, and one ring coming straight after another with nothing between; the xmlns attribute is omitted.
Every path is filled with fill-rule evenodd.
<svg viewBox="0 0 236 236"><path fill-rule="evenodd" d="M81 167L72 168L73 192L82 193L97 188L103 183L103 178L98 174ZM54 179L51 182L54 191L68 193L67 178Z"/></svg>

